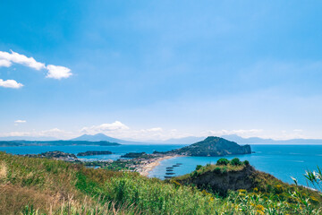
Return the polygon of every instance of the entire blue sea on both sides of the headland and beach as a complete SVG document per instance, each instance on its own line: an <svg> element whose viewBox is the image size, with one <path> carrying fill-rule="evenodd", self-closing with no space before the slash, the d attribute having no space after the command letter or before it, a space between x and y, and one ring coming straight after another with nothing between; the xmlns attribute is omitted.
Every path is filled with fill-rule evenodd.
<svg viewBox="0 0 322 215"><path fill-rule="evenodd" d="M111 150L111 155L85 156L82 159L106 160L119 159L127 152L147 152L154 150L166 151L181 148L182 144L150 144L150 145L119 145L119 146L19 146L0 147L0 150L12 154L37 154L51 150L61 150L64 152L77 154L86 150ZM250 165L260 171L267 172L278 179L293 184L292 177L298 180L300 185L308 185L305 179L306 170L316 170L322 168L322 145L276 145L276 144L252 144L248 155L225 156L226 159L239 158L249 160ZM216 164L217 157L177 157L165 159L149 172L149 177L165 178L165 169L180 163L179 167L174 167L174 176L182 176L191 173L197 165ZM291 177L292 176L292 177Z"/></svg>

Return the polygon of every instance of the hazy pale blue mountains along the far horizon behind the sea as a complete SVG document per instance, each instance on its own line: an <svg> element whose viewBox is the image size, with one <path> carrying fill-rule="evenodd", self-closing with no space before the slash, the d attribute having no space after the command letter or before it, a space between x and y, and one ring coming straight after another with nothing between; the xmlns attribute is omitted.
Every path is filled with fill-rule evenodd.
<svg viewBox="0 0 322 215"><path fill-rule="evenodd" d="M250 137L250 138L243 138L241 136L231 134L231 135L223 135L222 138L225 138L229 141L237 142L239 144L322 144L322 139L292 139L292 140L273 140L273 139L263 139L259 137ZM126 141L122 139L113 138L107 136L104 133L97 133L94 135L84 134L77 138L73 138L70 141L88 141L88 142L118 142L121 144L192 144L195 142L203 141L207 137L196 137L196 136L189 136L177 139L168 139L165 141ZM56 141L57 139L53 137L32 137L32 136L12 136L12 137L0 137L0 141L17 141L17 140L24 140L24 141Z"/></svg>

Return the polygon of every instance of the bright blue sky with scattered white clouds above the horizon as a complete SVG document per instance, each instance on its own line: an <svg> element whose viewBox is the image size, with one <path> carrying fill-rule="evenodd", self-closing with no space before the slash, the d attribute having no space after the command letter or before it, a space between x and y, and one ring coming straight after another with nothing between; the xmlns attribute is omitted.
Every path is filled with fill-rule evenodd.
<svg viewBox="0 0 322 215"><path fill-rule="evenodd" d="M322 138L321 4L2 1L0 136Z"/></svg>

